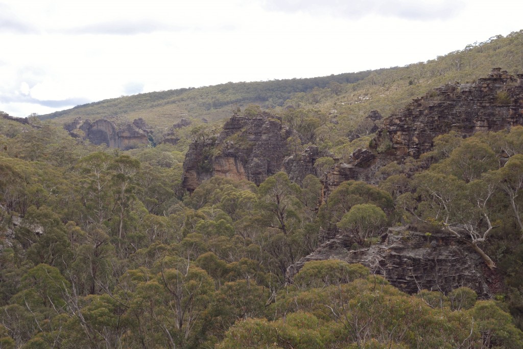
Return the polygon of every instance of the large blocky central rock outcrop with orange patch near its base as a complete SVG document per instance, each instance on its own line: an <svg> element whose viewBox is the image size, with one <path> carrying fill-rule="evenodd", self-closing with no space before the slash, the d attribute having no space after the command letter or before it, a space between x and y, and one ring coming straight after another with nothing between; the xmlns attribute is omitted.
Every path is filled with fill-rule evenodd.
<svg viewBox="0 0 523 349"><path fill-rule="evenodd" d="M189 192L212 176L260 184L283 168L289 130L281 118L264 113L233 116L215 137L193 142L184 161L183 187Z"/></svg>

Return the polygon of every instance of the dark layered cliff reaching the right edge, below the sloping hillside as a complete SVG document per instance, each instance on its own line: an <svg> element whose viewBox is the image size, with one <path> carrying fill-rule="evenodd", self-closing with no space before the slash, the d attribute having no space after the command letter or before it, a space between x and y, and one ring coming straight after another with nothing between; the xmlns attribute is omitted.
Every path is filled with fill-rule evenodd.
<svg viewBox="0 0 523 349"><path fill-rule="evenodd" d="M439 134L498 131L523 125L523 74L517 78L494 68L472 84L449 84L419 97L384 121L374 140L387 142L399 155L418 157Z"/></svg>

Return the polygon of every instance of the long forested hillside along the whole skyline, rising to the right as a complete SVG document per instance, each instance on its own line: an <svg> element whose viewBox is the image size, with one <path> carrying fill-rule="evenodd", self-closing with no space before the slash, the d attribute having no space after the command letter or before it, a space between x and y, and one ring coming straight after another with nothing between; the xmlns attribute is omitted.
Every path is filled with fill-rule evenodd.
<svg viewBox="0 0 523 349"><path fill-rule="evenodd" d="M475 81L486 76L493 67L502 67L510 74L523 71L523 30L475 42L463 50L404 67L151 92L106 99L40 118L63 123L76 117L92 120L141 117L152 127L165 127L182 117L222 120L231 116L233 109L243 109L249 104L275 109L275 112L293 106L332 114L338 119L337 131L342 136L370 110L379 110L383 116L388 116L435 87Z"/></svg>

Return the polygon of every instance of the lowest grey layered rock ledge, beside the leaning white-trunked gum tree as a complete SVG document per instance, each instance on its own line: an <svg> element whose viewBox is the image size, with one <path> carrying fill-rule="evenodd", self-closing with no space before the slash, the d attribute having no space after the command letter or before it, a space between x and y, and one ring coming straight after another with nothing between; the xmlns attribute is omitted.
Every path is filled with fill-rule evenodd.
<svg viewBox="0 0 523 349"><path fill-rule="evenodd" d="M348 237L337 235L290 266L287 276L291 280L305 262L337 259L361 263L410 294L419 289L448 292L467 286L481 297L492 295L483 276L481 257L448 233L427 237L409 227L396 227L389 228L378 244L360 250L351 250L351 245Z"/></svg>

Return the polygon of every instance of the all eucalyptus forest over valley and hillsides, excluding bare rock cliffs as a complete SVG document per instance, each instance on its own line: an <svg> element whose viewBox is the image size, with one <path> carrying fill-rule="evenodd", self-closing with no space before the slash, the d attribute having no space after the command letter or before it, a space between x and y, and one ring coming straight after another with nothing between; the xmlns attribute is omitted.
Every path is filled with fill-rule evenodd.
<svg viewBox="0 0 523 349"><path fill-rule="evenodd" d="M391 144L371 147L379 135L365 119L492 66L521 72L522 50L517 32L395 69L121 97L25 123L0 118L0 347L523 347L523 127L442 134L419 159L396 161ZM160 118L163 108L177 111ZM56 125L118 113L146 115L160 129L182 114L194 123L177 130L175 145L127 151ZM291 134L286 155L319 148L317 174L358 148L391 160L372 181L344 182L328 198L319 176L298 184L285 172L259 186L215 176L189 195L188 145L218 130L197 120L233 114L277 116ZM468 287L407 294L340 260L307 262L289 279L288 267L329 225L353 250L398 226L424 232L430 249L432 234L462 238L461 227L501 281L488 298Z"/></svg>

